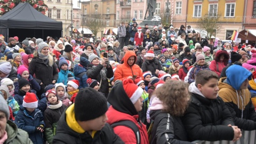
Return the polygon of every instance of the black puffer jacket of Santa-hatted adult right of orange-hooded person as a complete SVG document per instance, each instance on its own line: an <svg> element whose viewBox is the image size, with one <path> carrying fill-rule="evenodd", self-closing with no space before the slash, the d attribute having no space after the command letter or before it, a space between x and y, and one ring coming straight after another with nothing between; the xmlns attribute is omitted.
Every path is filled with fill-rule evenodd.
<svg viewBox="0 0 256 144"><path fill-rule="evenodd" d="M152 75L156 76L156 69L163 70L163 67L161 63L156 58L154 58L152 62L145 60L142 63L141 69L142 69L142 72L150 71Z"/></svg>

